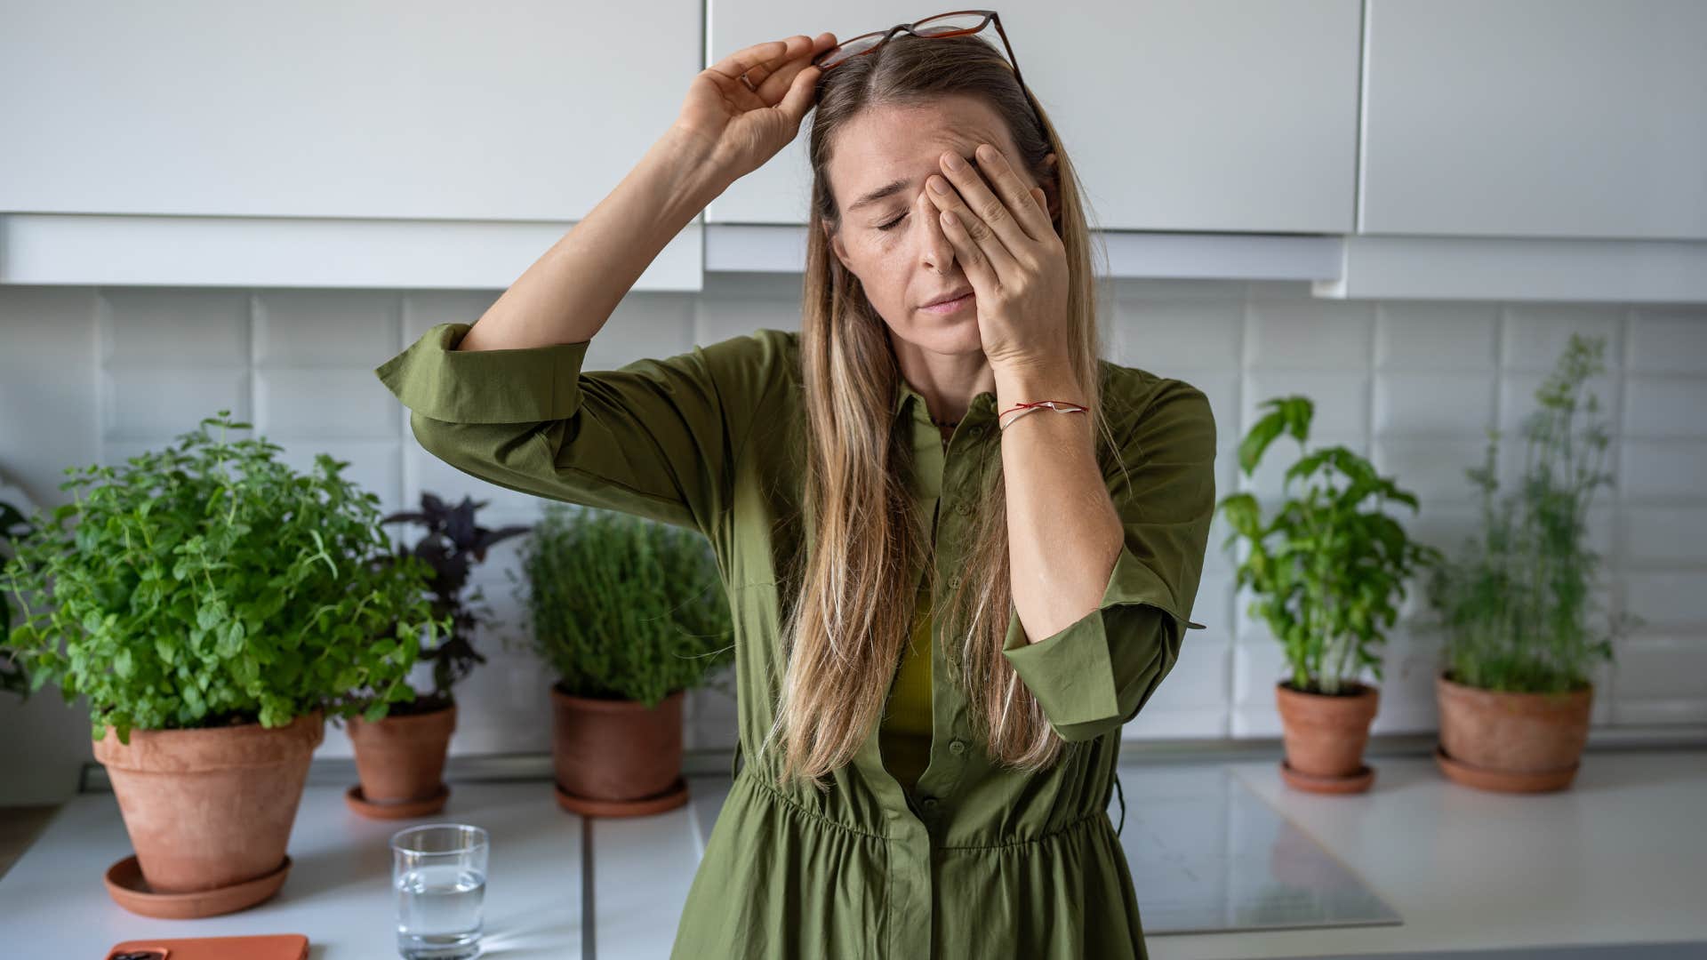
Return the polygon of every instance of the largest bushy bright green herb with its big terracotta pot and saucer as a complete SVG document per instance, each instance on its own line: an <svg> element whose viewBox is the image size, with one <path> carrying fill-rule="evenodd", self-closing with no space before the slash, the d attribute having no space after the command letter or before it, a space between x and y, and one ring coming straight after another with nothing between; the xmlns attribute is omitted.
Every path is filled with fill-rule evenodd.
<svg viewBox="0 0 1707 960"><path fill-rule="evenodd" d="M217 427L217 432L210 432ZM17 541L0 589L31 683L89 700L135 858L119 904L207 916L265 900L324 716L408 695L428 571L372 564L377 497L319 454L297 473L229 412L121 466L67 468L75 500ZM75 521L75 523L73 523Z"/></svg>

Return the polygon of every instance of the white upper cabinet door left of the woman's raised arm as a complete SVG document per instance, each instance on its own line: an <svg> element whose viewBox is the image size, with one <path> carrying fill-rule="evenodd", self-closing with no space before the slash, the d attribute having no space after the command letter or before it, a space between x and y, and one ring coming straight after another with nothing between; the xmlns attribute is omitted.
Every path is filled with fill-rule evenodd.
<svg viewBox="0 0 1707 960"><path fill-rule="evenodd" d="M577 220L703 68L700 2L635 14L558 0L12 2L0 210Z"/></svg>

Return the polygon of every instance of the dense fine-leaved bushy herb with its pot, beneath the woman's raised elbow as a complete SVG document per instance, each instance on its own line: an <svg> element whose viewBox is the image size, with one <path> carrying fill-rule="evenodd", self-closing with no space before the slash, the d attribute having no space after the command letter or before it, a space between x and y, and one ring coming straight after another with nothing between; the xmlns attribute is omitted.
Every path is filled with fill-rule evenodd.
<svg viewBox="0 0 1707 960"><path fill-rule="evenodd" d="M584 817L681 806L683 694L707 682L734 634L710 543L553 502L522 552L533 649L556 675L558 805Z"/></svg>

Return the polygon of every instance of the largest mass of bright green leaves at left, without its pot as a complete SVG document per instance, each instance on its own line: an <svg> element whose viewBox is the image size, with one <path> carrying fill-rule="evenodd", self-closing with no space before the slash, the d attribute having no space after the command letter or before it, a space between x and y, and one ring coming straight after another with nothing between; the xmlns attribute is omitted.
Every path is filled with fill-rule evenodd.
<svg viewBox="0 0 1707 960"><path fill-rule="evenodd" d="M87 695L94 740L278 728L316 709L377 719L413 697L420 632L446 629L430 571L387 555L379 497L345 461L323 453L297 473L265 439L227 439L244 429L220 410L123 466L67 468L73 502L36 511L0 571L32 612L10 637L32 688Z"/></svg>

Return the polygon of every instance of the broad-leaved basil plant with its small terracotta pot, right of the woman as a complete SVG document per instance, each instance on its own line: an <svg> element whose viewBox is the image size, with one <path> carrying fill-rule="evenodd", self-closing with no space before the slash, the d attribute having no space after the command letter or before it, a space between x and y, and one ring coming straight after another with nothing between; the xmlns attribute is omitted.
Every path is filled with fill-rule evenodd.
<svg viewBox="0 0 1707 960"><path fill-rule="evenodd" d="M1374 647L1386 642L1398 617L1405 579L1441 557L1383 511L1384 500L1395 500L1415 512L1413 494L1343 446L1304 451L1314 415L1309 398L1261 407L1268 413L1239 442L1239 468L1251 477L1263 451L1287 434L1301 456L1287 468L1282 492L1294 480L1309 487L1267 521L1251 494L1231 494L1219 509L1232 526L1226 545L1243 540L1250 547L1238 567L1238 586L1255 593L1250 613L1268 623L1290 666L1290 676L1275 683L1285 741L1280 772L1297 789L1362 793L1374 782L1362 753L1379 688L1359 675L1367 666L1383 678Z"/></svg>

